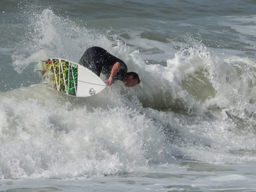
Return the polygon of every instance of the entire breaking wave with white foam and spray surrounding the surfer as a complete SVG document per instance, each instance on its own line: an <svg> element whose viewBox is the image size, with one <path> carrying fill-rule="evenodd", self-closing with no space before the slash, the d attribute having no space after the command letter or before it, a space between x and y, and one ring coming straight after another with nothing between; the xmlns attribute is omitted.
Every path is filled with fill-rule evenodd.
<svg viewBox="0 0 256 192"><path fill-rule="evenodd" d="M86 48L101 46L140 74L144 87L119 81L90 98L45 85L0 93L0 177L134 173L182 160L255 162L255 60L219 59L190 38L166 65L148 64L105 29L50 8L28 16L30 30L12 55L20 74L31 64L36 69L38 60L77 62Z"/></svg>

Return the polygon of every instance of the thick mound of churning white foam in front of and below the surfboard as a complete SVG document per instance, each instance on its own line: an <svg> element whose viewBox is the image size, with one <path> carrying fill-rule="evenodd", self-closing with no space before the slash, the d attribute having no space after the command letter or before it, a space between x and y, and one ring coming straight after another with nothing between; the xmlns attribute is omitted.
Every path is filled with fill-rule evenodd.
<svg viewBox="0 0 256 192"><path fill-rule="evenodd" d="M93 103L105 96L90 102L62 93L56 97L54 89L35 85L0 98L4 178L140 172L149 163L165 162L170 150L164 134L140 111L120 105L95 108Z"/></svg>

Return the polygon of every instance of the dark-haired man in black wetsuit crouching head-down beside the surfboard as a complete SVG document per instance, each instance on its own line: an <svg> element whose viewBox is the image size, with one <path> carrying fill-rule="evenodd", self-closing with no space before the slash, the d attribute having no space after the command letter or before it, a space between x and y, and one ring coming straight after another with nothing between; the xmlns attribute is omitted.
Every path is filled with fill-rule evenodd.
<svg viewBox="0 0 256 192"><path fill-rule="evenodd" d="M100 76L101 73L109 79L107 85L111 86L116 80L123 81L125 86L132 87L140 83L140 77L135 72L127 72L123 60L111 55L101 47L90 47L79 61L79 64L90 69Z"/></svg>

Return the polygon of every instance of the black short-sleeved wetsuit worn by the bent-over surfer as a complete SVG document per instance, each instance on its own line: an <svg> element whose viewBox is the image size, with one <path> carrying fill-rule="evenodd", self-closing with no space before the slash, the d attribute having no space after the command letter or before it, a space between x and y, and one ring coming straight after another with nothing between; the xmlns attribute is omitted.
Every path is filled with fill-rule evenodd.
<svg viewBox="0 0 256 192"><path fill-rule="evenodd" d="M121 64L121 68L114 77L114 81L121 80L123 81L127 74L127 66L123 60L116 58L114 55L111 55L105 49L101 47L90 47L87 49L79 61L79 64L90 69L96 75L101 75L101 72L107 77L110 76L112 67L116 62Z"/></svg>

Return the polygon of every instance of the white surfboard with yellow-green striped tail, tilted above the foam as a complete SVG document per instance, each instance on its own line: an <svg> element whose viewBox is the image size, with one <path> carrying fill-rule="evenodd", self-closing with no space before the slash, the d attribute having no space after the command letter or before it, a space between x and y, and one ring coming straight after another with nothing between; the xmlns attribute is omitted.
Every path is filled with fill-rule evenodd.
<svg viewBox="0 0 256 192"><path fill-rule="evenodd" d="M91 97L106 88L101 78L78 63L51 58L39 65L44 82L64 94Z"/></svg>

